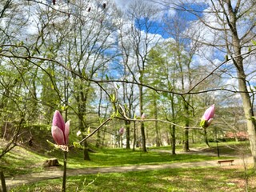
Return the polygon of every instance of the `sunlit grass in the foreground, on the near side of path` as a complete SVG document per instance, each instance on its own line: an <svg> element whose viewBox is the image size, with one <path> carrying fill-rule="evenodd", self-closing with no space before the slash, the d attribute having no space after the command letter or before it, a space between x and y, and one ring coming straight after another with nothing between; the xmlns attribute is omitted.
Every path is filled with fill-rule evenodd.
<svg viewBox="0 0 256 192"><path fill-rule="evenodd" d="M256 190L256 174L247 171L248 191ZM11 191L60 191L61 179L19 186ZM67 191L246 191L242 167L168 169L67 178Z"/></svg>

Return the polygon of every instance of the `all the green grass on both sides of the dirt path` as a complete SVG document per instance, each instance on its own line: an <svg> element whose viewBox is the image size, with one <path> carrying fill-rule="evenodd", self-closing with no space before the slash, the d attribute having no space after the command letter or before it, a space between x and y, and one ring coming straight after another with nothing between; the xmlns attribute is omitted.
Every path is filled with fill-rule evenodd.
<svg viewBox="0 0 256 192"><path fill-rule="evenodd" d="M246 151L246 142L219 143L222 156L238 155L240 150ZM230 147L231 146L231 147ZM202 145L191 146L202 149ZM178 146L178 151L182 147ZM129 166L145 164L166 164L174 162L200 162L219 159L216 147L202 150L202 154L177 154L159 152L170 150L170 146L154 148L147 153L139 150L102 149L90 153L91 161L82 160L82 150L71 150L68 154L68 169L81 169L86 167ZM212 155L208 155L209 152ZM213 156L214 155L214 156ZM20 147L15 148L2 158L0 168L7 177L17 174L29 174L45 170L42 163L47 158L58 158L62 163L62 152L54 150L48 154L36 154ZM59 166L58 169L62 169ZM197 169L168 169L154 171L137 171L118 174L98 174L72 176L67 179L67 191L244 191L246 187L245 171L240 167L230 166L197 168ZM250 179L254 172L250 173ZM256 189L253 179L250 180L250 189ZM62 179L36 182L26 186L18 186L10 191L60 191Z"/></svg>

